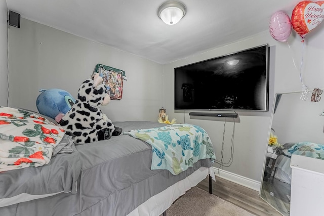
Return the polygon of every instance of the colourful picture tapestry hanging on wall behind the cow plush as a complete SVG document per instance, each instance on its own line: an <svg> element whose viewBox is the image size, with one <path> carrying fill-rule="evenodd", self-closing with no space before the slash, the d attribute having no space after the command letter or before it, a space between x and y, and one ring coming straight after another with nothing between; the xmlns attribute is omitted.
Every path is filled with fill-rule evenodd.
<svg viewBox="0 0 324 216"><path fill-rule="evenodd" d="M110 99L121 100L123 96L123 79L126 79L125 71L97 64L94 73L99 73L103 78Z"/></svg>

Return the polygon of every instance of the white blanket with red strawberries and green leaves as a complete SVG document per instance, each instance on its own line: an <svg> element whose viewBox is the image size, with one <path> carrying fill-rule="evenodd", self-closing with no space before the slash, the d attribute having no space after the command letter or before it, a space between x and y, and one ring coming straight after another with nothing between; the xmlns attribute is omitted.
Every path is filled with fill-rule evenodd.
<svg viewBox="0 0 324 216"><path fill-rule="evenodd" d="M42 116L0 106L0 172L49 163L64 134Z"/></svg>

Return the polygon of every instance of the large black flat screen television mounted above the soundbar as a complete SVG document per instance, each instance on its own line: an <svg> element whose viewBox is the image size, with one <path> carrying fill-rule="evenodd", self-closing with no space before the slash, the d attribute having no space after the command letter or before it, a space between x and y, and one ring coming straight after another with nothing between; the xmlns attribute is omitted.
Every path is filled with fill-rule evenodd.
<svg viewBox="0 0 324 216"><path fill-rule="evenodd" d="M268 111L268 44L177 67L176 110Z"/></svg>

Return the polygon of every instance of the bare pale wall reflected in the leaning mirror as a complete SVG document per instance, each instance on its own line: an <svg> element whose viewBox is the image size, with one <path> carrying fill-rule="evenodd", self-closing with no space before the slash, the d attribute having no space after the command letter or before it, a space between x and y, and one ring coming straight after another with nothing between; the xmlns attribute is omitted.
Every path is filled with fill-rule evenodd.
<svg viewBox="0 0 324 216"><path fill-rule="evenodd" d="M272 128L281 145L313 142L324 144L324 99L318 102L300 100L301 93L282 94Z"/></svg>

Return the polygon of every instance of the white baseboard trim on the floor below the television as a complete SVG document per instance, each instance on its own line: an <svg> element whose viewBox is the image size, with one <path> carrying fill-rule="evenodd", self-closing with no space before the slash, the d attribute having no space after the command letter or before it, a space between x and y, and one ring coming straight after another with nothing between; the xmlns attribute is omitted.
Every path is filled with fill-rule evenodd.
<svg viewBox="0 0 324 216"><path fill-rule="evenodd" d="M261 182L246 178L244 176L239 176L237 174L233 174L232 172L229 172L229 171L226 171L223 169L219 169L217 167L213 167L213 169L214 169L216 177L226 179L228 181L234 182L236 184L239 184L239 185L242 185L247 188L251 188L255 191L260 192Z"/></svg>

